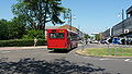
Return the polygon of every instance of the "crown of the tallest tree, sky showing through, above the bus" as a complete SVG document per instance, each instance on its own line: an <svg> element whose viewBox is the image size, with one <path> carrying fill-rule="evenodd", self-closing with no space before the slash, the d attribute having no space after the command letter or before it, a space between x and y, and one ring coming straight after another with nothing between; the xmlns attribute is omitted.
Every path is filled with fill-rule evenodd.
<svg viewBox="0 0 132 74"><path fill-rule="evenodd" d="M13 5L12 12L19 16L24 16L26 25L33 29L45 29L45 24L52 22L63 24L59 15L65 10L61 7L62 0L18 0Z"/></svg>

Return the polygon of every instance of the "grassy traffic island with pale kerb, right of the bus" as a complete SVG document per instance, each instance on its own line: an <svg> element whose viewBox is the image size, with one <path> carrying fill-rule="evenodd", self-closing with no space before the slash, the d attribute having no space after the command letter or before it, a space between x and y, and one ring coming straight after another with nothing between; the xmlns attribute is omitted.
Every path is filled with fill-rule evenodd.
<svg viewBox="0 0 132 74"><path fill-rule="evenodd" d="M132 58L132 48L86 48L76 53L88 57Z"/></svg>

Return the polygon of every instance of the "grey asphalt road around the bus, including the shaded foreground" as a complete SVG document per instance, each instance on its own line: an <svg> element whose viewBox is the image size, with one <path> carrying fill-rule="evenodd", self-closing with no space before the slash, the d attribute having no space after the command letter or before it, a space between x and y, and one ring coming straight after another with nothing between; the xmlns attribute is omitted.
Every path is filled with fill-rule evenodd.
<svg viewBox="0 0 132 74"><path fill-rule="evenodd" d="M100 48L88 45L85 48ZM132 74L132 59L95 58L46 48L0 50L0 74Z"/></svg>

